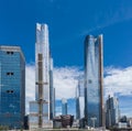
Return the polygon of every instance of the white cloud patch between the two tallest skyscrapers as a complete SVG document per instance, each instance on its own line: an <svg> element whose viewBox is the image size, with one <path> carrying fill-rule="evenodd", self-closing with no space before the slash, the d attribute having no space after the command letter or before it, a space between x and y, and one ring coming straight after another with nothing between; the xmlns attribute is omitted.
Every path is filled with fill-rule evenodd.
<svg viewBox="0 0 132 131"><path fill-rule="evenodd" d="M56 98L73 98L77 87L77 78L82 75L77 67L54 68L54 87L56 89Z"/></svg>

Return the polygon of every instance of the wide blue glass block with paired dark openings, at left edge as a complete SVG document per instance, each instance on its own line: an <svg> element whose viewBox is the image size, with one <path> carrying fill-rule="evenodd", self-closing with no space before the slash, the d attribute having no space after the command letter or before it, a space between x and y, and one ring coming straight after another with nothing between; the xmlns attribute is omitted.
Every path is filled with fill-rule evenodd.
<svg viewBox="0 0 132 131"><path fill-rule="evenodd" d="M19 46L0 46L0 125L21 129L24 114L24 55Z"/></svg>

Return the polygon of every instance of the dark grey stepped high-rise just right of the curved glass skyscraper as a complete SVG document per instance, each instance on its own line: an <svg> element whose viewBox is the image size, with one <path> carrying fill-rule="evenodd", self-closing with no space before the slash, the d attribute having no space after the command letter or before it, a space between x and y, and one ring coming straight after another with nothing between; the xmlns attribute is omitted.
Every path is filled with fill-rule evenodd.
<svg viewBox="0 0 132 131"><path fill-rule="evenodd" d="M112 128L119 123L119 101L116 97L109 96L106 102L106 127Z"/></svg>

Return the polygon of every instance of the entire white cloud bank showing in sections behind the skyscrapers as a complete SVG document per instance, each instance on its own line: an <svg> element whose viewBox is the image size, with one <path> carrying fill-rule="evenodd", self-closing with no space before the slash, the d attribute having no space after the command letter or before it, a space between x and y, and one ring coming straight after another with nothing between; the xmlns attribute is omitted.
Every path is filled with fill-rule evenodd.
<svg viewBox="0 0 132 131"><path fill-rule="evenodd" d="M117 92L120 96L132 95L132 67L105 69L105 97ZM56 67L54 68L54 87L56 99L74 98L77 78L82 76L82 70L78 67ZM35 67L26 65L26 112L29 112L29 101L35 99Z"/></svg>

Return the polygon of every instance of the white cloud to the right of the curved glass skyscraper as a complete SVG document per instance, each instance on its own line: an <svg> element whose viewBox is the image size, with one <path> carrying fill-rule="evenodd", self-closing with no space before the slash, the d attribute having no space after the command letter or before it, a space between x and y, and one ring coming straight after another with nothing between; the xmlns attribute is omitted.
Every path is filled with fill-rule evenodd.
<svg viewBox="0 0 132 131"><path fill-rule="evenodd" d="M132 67L128 68L107 68L105 78L106 96L117 92L120 96L132 95Z"/></svg>

